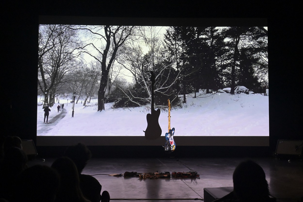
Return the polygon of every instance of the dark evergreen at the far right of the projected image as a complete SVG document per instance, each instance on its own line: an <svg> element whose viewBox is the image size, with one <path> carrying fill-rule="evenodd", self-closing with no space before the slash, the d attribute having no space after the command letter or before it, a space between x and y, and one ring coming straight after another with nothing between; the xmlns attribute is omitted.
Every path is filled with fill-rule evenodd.
<svg viewBox="0 0 303 202"><path fill-rule="evenodd" d="M267 33L258 27L229 27L224 34L229 56L232 56L228 63L230 75L226 76L230 79L231 94L234 94L236 83L253 89L260 80L257 70L261 66L261 69L267 69Z"/></svg>

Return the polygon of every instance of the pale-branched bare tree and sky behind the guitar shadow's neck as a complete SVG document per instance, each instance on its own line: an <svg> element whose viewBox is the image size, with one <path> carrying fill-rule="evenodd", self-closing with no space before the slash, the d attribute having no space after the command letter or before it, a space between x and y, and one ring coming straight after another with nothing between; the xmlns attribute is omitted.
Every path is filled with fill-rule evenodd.
<svg viewBox="0 0 303 202"><path fill-rule="evenodd" d="M136 89L147 92L147 96L138 97L132 94L131 89L121 89L125 96L138 106L151 103L150 71L155 73L154 92L168 97L171 95L172 86L182 76L183 67L177 70L175 60L165 61L163 56L164 31L165 27L136 27L134 35L124 43L121 57L118 58L118 63L132 75ZM173 101L177 96L178 93L171 100Z"/></svg>

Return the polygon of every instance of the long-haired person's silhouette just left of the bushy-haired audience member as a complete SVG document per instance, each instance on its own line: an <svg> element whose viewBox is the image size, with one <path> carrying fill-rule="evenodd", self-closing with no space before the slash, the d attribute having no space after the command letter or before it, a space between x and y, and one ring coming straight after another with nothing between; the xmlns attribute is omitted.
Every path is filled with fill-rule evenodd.
<svg viewBox="0 0 303 202"><path fill-rule="evenodd" d="M55 202L90 202L79 185L79 175L75 163L68 157L60 157L51 166L60 176L60 186Z"/></svg>

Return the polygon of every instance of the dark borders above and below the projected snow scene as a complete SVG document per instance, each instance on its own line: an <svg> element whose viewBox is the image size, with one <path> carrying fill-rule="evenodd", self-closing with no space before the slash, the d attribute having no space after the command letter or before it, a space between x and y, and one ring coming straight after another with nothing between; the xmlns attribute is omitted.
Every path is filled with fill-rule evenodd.
<svg viewBox="0 0 303 202"><path fill-rule="evenodd" d="M267 18L122 18L50 15L38 17L38 24L268 26ZM269 146L269 138L270 134L269 136L174 136L177 146ZM165 139L147 140L145 136L36 136L37 146L70 146L79 142L87 146L161 146L165 144Z"/></svg>

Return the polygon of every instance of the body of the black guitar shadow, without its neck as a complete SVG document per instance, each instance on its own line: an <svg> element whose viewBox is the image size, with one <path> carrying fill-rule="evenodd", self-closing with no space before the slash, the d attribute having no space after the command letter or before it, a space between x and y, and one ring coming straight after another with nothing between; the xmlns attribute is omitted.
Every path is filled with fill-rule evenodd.
<svg viewBox="0 0 303 202"><path fill-rule="evenodd" d="M147 128L144 132L147 140L156 140L161 136L162 130L159 125L159 116L160 109L154 110L151 114L146 115Z"/></svg>

